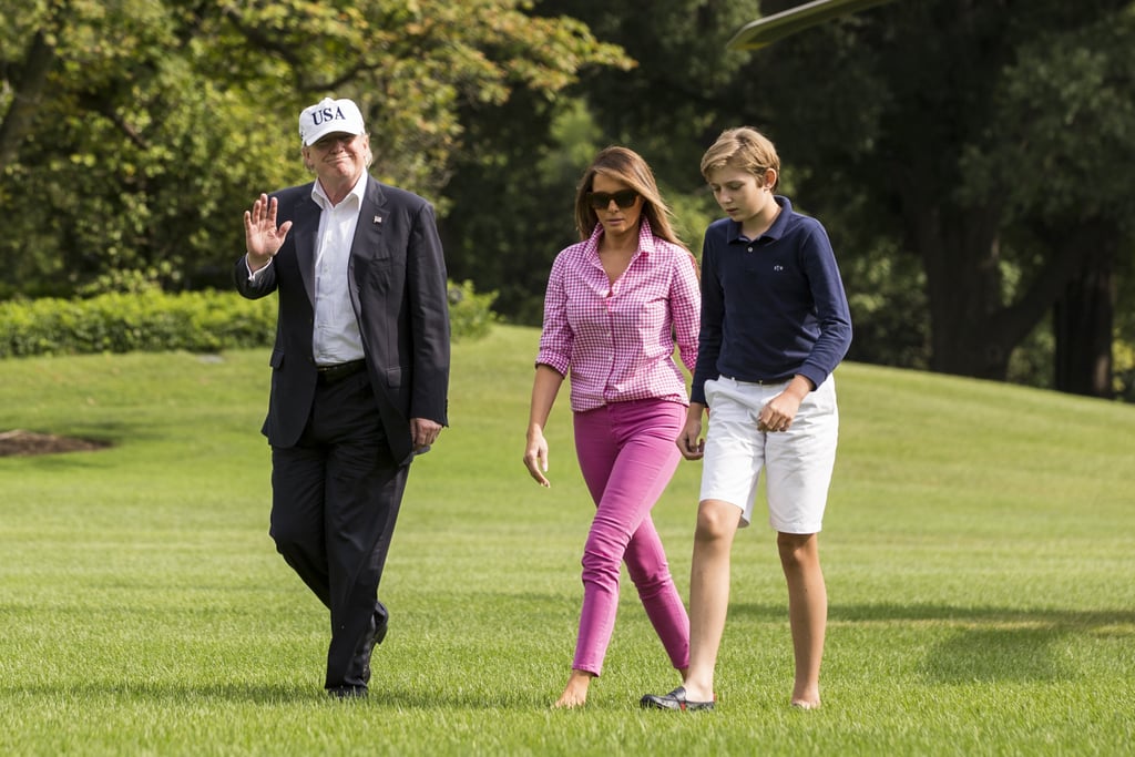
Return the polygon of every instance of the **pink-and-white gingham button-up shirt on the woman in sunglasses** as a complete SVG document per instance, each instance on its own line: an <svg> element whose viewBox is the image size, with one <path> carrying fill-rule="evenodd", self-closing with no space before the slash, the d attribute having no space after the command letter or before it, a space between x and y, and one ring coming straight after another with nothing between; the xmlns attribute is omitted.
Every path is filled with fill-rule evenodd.
<svg viewBox="0 0 1135 757"><path fill-rule="evenodd" d="M661 239L642 219L639 249L611 284L599 261L603 226L557 256L544 297L544 333L537 364L562 376L571 370L571 409L579 413L612 402L658 398L688 404L701 294L693 258Z"/></svg>

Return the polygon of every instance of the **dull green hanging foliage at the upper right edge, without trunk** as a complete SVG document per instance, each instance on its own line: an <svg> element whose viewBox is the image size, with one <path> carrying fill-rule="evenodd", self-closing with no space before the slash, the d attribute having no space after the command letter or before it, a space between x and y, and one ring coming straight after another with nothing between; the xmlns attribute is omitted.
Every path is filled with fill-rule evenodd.
<svg viewBox="0 0 1135 757"><path fill-rule="evenodd" d="M1133 37L1135 6L1025 40L995 83L999 127L961 155L960 191L1003 196L1011 220L1102 216L1135 233Z"/></svg>

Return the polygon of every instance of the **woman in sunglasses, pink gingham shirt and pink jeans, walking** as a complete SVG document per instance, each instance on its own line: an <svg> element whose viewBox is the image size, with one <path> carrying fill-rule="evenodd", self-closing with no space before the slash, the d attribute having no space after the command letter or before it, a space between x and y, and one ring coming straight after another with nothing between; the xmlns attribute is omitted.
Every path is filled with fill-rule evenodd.
<svg viewBox="0 0 1135 757"><path fill-rule="evenodd" d="M619 604L620 565L673 666L689 665L689 617L674 587L650 508L681 457L674 438L689 398L674 346L697 360L697 263L674 234L649 166L636 152L599 152L575 194L580 242L552 266L536 359L524 465L549 486L544 438L571 376L575 453L595 499L583 547L583 609L575 658L556 707L587 701L603 672Z"/></svg>

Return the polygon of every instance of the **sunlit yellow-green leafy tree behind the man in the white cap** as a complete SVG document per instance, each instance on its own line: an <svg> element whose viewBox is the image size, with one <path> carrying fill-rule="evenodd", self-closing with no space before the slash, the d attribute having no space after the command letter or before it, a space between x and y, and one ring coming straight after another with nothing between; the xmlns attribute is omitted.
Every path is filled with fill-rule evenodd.
<svg viewBox="0 0 1135 757"><path fill-rule="evenodd" d="M167 287L227 283L241 211L308 179L296 116L333 93L368 116L372 170L444 211L462 107L554 96L581 67L619 60L578 22L531 18L521 0L64 1L12 11L0 37L6 125L31 41L43 34L54 52L0 175L15 226L0 266L28 294L118 269Z"/></svg>

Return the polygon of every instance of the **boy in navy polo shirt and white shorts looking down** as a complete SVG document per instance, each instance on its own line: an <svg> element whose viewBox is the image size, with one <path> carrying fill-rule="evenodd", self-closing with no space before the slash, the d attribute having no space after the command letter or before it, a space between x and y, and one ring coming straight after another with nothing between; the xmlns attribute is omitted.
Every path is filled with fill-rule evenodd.
<svg viewBox="0 0 1135 757"><path fill-rule="evenodd" d="M730 550L737 529L751 520L764 470L768 522L788 582L796 656L790 701L814 709L827 623L817 533L839 429L832 371L851 344L851 317L824 227L774 194L780 158L772 142L754 128L728 129L703 157L701 174L728 218L712 224L703 243L698 361L678 438L687 460L705 457L690 575L690 666L683 685L641 704L713 709Z"/></svg>

